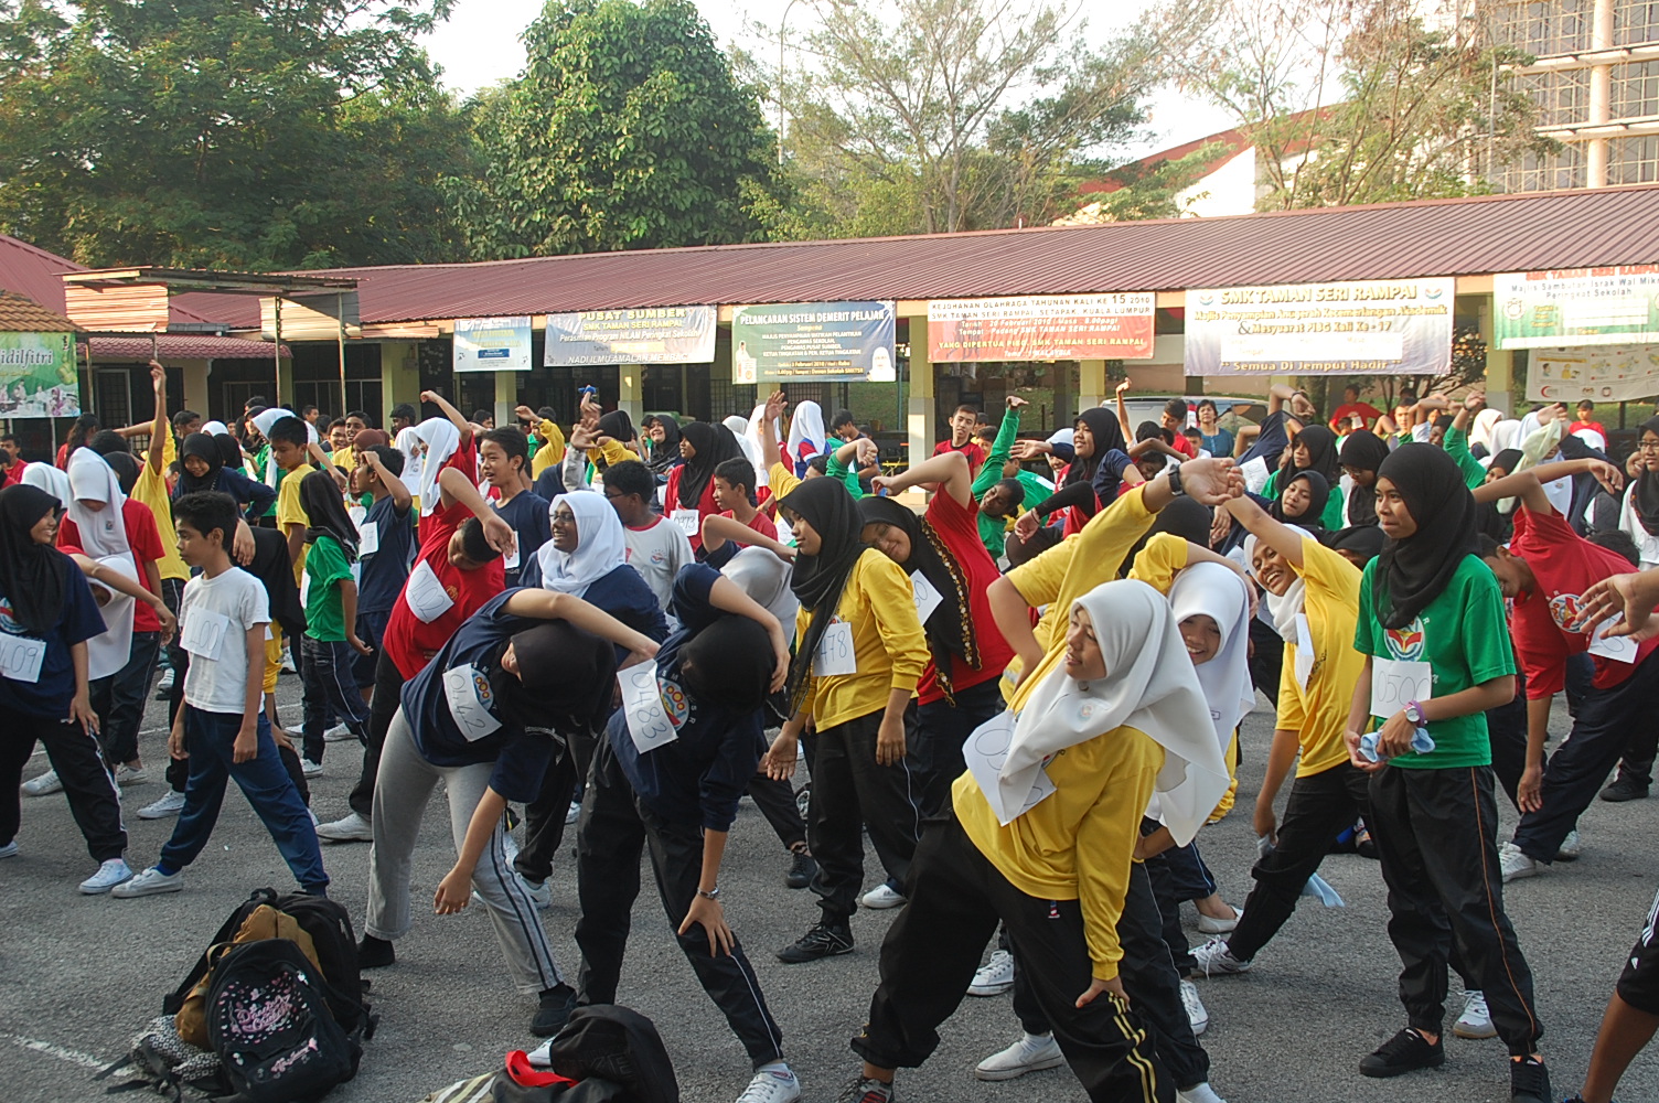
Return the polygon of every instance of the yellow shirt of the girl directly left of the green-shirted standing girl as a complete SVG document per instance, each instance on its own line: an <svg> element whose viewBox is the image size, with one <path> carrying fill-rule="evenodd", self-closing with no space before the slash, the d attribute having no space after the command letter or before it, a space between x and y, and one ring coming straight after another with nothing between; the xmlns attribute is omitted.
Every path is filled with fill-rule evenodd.
<svg viewBox="0 0 1659 1103"><path fill-rule="evenodd" d="M1314 665L1307 688L1296 680L1296 644L1284 645L1279 675L1279 718L1276 726L1296 731L1302 745L1296 776L1324 773L1347 761L1347 713L1354 702L1365 657L1354 650L1354 622L1359 617L1359 567L1311 536L1302 537L1302 579L1307 581L1307 630L1314 642ZM1294 625L1279 625L1292 637Z"/></svg>

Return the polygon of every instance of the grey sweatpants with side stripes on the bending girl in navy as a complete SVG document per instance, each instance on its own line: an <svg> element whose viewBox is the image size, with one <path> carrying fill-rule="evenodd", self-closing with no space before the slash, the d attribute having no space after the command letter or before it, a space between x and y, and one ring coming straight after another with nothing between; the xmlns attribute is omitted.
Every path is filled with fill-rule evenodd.
<svg viewBox="0 0 1659 1103"><path fill-rule="evenodd" d="M403 710L392 718L387 743L380 751L375 778L375 844L368 851L368 922L363 931L377 939L397 940L410 929L410 866L415 836L426 814L431 791L443 781L450 796L450 829L455 849L466 841L473 811L489 786L491 763L474 766L435 766L415 748ZM519 992L538 994L564 980L552 960L552 945L541 929L536 904L513 876L513 862L503 849L504 831L496 826L489 849L478 859L473 889L489 911L496 942L508 959L508 972Z"/></svg>

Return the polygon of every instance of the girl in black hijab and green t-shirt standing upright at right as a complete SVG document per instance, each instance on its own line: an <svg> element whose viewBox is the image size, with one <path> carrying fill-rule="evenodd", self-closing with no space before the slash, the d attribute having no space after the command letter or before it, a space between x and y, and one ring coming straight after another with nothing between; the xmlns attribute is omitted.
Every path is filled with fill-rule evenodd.
<svg viewBox="0 0 1659 1103"><path fill-rule="evenodd" d="M1377 521L1389 544L1360 581L1354 647L1369 658L1344 740L1349 761L1372 775L1372 838L1407 1027L1365 1057L1360 1073L1445 1063L1440 1032L1457 949L1510 1048L1511 1098L1546 1103L1533 977L1503 911L1485 717L1515 697L1503 592L1478 556L1475 499L1443 449L1407 443L1382 463ZM1433 740L1427 753L1412 750L1420 728ZM1360 753L1370 730L1377 761Z"/></svg>

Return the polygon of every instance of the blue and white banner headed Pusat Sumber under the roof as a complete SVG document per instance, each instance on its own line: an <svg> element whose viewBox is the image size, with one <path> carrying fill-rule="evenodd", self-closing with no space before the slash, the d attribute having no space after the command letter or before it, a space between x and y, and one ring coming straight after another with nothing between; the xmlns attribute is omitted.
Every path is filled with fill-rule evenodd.
<svg viewBox="0 0 1659 1103"><path fill-rule="evenodd" d="M715 307L639 307L547 315L549 368L713 363Z"/></svg>

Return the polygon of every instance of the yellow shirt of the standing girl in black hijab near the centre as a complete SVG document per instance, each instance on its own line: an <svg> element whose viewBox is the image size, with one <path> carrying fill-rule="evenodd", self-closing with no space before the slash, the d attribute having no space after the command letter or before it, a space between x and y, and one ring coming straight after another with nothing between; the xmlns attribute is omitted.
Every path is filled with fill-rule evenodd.
<svg viewBox="0 0 1659 1103"><path fill-rule="evenodd" d="M916 594L899 564L866 547L841 590L836 620L853 627L856 673L813 675L805 708L820 731L888 707L893 690L916 692L927 667L927 637L916 619ZM795 639L806 639L813 614L801 609Z"/></svg>

